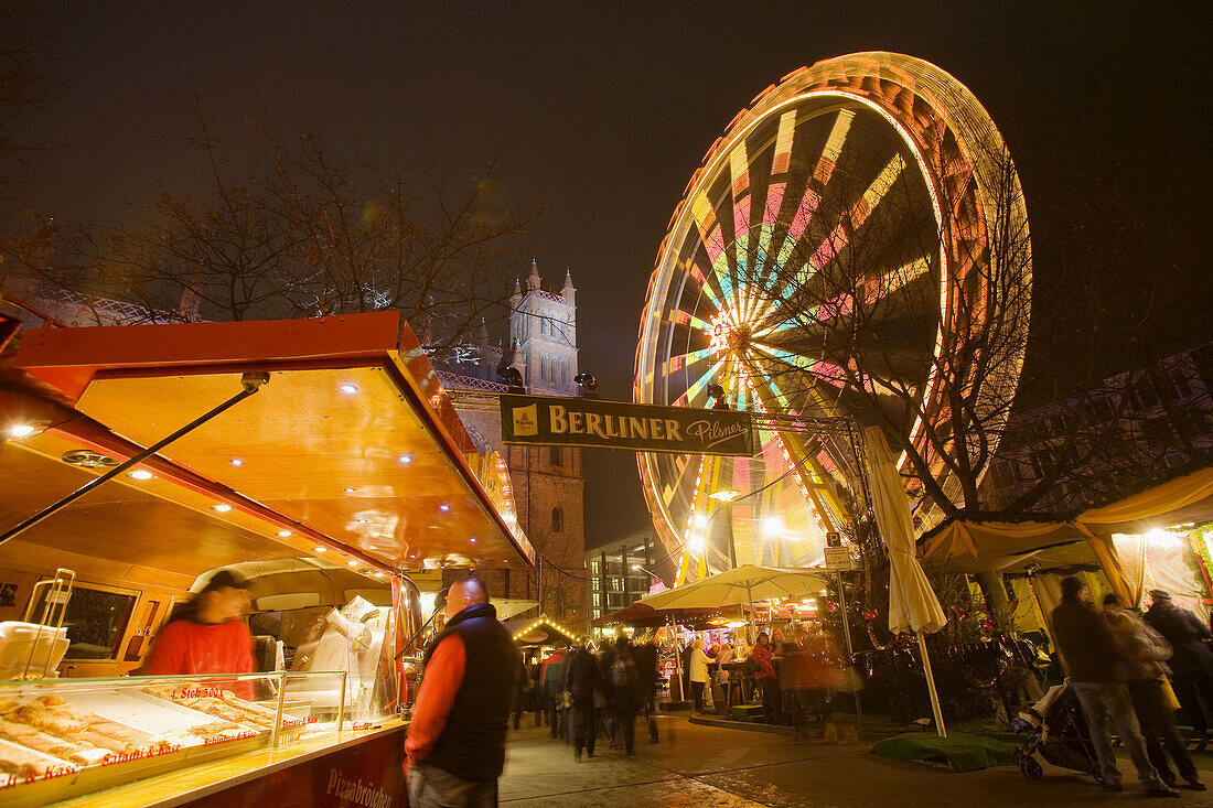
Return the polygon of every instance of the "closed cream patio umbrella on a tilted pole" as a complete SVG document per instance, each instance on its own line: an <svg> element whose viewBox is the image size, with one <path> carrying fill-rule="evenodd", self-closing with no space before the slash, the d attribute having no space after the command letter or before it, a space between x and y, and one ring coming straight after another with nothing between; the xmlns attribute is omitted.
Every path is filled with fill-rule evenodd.
<svg viewBox="0 0 1213 808"><path fill-rule="evenodd" d="M889 631L895 635L912 631L918 636L918 650L922 653L922 667L927 673L935 727L940 738L947 738L926 639L927 633L939 631L947 624L947 616L944 615L944 608L939 605L939 598L930 588L930 582L915 554L910 499L906 496L901 476L894 465L893 453L889 451L889 444L881 427L867 427L864 431L864 449L867 478L872 486L876 525L884 537L884 546L889 550Z"/></svg>

